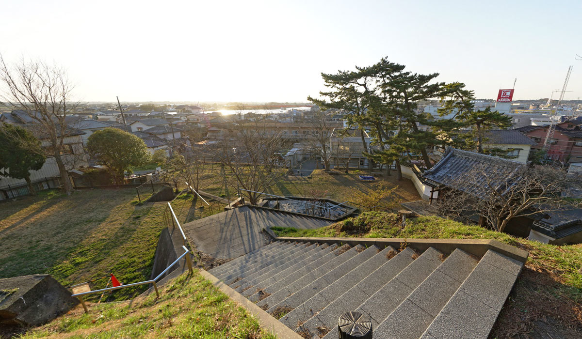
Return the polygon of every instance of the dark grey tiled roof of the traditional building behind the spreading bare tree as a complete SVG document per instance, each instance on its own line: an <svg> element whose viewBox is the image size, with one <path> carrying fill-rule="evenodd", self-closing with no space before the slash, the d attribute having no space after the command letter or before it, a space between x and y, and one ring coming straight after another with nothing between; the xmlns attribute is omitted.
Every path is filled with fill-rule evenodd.
<svg viewBox="0 0 582 339"><path fill-rule="evenodd" d="M428 181L446 185L475 196L480 196L484 190L485 179L480 180L475 178L473 183L465 183L463 187L458 187L457 179L475 169L495 173L498 172L500 168L515 170L521 166L524 166L524 163L509 159L496 158L491 155L449 148L445 156L443 156L434 167L423 173L423 177Z"/></svg>

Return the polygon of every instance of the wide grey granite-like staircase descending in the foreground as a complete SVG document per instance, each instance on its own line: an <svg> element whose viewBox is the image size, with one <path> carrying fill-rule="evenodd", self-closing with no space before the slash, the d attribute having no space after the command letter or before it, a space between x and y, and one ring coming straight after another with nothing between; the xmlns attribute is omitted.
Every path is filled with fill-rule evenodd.
<svg viewBox="0 0 582 339"><path fill-rule="evenodd" d="M367 315L374 338L487 338L523 262L488 249L417 252L275 241L209 272L304 338L337 338Z"/></svg>

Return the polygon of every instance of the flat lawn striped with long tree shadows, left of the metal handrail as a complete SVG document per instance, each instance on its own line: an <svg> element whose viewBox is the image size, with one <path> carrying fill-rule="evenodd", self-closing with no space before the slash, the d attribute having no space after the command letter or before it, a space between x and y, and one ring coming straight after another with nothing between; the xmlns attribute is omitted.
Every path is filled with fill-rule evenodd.
<svg viewBox="0 0 582 339"><path fill-rule="evenodd" d="M83 190L70 197L43 191L0 206L0 278L51 274L65 286L113 273L122 283L149 279L166 204L137 204L136 190ZM218 203L181 195L172 202L180 222L220 212ZM96 281L94 289L105 287ZM127 299L145 286L113 292Z"/></svg>

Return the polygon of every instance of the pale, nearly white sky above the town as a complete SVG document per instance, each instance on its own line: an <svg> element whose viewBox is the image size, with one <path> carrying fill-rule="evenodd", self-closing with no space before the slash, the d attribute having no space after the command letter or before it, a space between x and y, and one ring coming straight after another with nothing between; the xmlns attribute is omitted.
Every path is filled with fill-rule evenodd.
<svg viewBox="0 0 582 339"><path fill-rule="evenodd" d="M582 1L2 0L0 52L63 65L81 101L306 101L320 73L388 56L478 98L549 97L574 66ZM555 95L556 98L558 95Z"/></svg>

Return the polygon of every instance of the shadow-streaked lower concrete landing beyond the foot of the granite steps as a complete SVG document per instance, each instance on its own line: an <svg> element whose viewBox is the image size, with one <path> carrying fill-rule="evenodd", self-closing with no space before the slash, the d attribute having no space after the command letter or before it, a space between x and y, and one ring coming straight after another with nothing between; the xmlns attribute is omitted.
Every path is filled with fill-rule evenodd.
<svg viewBox="0 0 582 339"><path fill-rule="evenodd" d="M267 209L242 206L182 225L198 251L216 259L232 259L263 247L272 241L267 227L315 229L329 220L288 215Z"/></svg>

